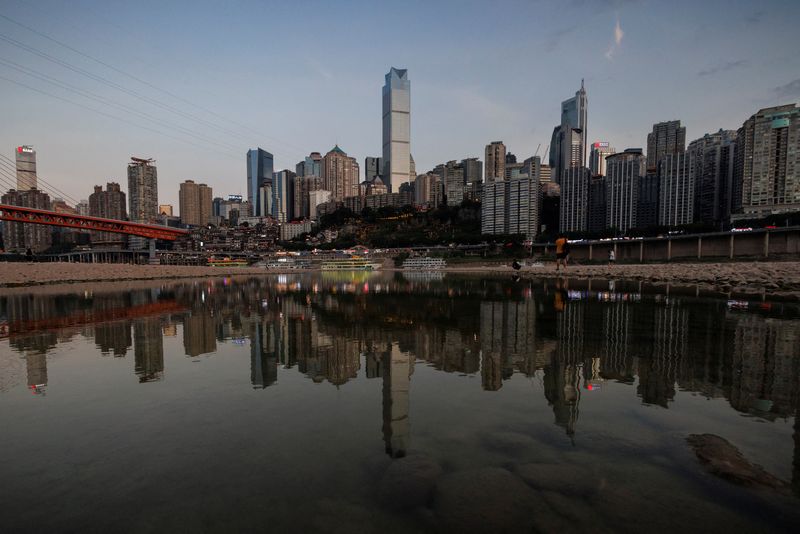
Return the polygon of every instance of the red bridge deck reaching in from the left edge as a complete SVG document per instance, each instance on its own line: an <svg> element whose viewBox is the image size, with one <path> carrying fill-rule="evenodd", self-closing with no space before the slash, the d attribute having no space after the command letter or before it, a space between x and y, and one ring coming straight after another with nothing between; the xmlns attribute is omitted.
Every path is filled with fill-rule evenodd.
<svg viewBox="0 0 800 534"><path fill-rule="evenodd" d="M113 232L116 234L135 235L149 239L164 239L175 241L182 235L187 235L188 230L171 228L160 224L142 224L116 219L103 219L88 215L72 215L55 211L23 208L0 204L0 220L28 224L47 224L50 226L64 226L80 230L96 230L98 232Z"/></svg>

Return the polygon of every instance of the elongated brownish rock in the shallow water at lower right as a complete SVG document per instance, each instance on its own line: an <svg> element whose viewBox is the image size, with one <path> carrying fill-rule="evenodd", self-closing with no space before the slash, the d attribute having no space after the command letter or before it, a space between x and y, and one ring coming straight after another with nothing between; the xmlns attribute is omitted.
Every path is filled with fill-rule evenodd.
<svg viewBox="0 0 800 534"><path fill-rule="evenodd" d="M714 434L691 434L686 441L708 470L741 486L783 490L786 482L774 477L760 465L750 463L728 440Z"/></svg>

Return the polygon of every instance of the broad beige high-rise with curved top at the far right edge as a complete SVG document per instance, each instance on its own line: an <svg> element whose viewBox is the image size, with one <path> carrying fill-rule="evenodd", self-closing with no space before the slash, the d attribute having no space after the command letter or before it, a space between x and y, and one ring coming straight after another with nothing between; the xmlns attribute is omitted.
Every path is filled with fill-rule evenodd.
<svg viewBox="0 0 800 534"><path fill-rule="evenodd" d="M800 108L759 110L739 128L735 208L742 218L800 210Z"/></svg>

